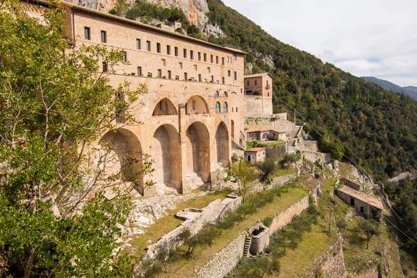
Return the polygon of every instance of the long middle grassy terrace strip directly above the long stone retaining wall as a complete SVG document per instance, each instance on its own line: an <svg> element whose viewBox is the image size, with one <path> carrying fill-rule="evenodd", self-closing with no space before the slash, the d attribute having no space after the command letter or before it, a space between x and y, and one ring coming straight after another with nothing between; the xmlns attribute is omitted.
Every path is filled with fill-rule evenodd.
<svg viewBox="0 0 417 278"><path fill-rule="evenodd" d="M194 277L195 268L202 268L216 253L229 245L231 240L234 240L242 231L252 227L258 220L275 215L279 210L291 206L293 202L301 199L304 195L306 195L306 192L301 188L290 188L288 193L286 189L282 188L281 197L275 197L274 202L260 208L253 215L247 216L242 222L236 223L234 228L222 231L222 235L215 238L211 247L196 247L195 257L193 259L181 259L176 263L172 263L168 266L168 273L163 273L159 277ZM180 247L179 252L180 254L185 254L186 247Z"/></svg>

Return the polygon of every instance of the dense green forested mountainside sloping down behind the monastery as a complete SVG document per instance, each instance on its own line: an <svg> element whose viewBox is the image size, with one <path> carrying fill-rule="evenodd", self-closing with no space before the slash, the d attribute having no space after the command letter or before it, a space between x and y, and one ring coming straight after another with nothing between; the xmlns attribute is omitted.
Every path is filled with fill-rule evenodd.
<svg viewBox="0 0 417 278"><path fill-rule="evenodd" d="M322 134L311 132L322 151L345 154L377 177L416 168L416 101L280 42L220 0L208 0L208 7L209 22L227 35L218 42L247 51L252 72L275 76L274 111L295 107Z"/></svg>

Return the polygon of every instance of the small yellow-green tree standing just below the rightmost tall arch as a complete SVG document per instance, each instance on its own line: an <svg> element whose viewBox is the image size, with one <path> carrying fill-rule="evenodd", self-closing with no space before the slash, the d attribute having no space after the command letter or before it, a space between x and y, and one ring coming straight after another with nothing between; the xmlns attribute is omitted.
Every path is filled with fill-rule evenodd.
<svg viewBox="0 0 417 278"><path fill-rule="evenodd" d="M230 165L230 173L238 181L238 194L242 196L242 201L245 202L245 198L252 188L252 182L258 178L258 174L250 163L247 163L243 158Z"/></svg>

